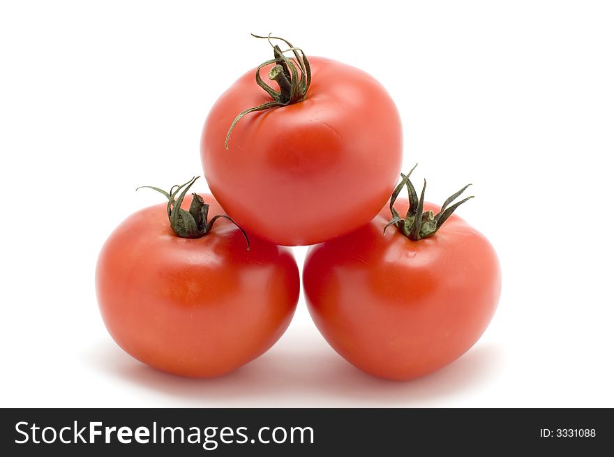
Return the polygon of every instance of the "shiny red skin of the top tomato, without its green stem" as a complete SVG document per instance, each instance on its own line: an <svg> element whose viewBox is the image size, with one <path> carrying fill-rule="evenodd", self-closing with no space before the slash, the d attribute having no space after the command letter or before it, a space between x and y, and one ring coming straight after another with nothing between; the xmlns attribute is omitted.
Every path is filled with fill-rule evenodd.
<svg viewBox="0 0 614 457"><path fill-rule="evenodd" d="M202 131L211 193L245 230L285 246L320 243L368 223L390 196L402 160L400 117L384 87L352 66L309 60L304 101L247 114L226 150L234 117L271 100L250 70L216 101Z"/></svg>

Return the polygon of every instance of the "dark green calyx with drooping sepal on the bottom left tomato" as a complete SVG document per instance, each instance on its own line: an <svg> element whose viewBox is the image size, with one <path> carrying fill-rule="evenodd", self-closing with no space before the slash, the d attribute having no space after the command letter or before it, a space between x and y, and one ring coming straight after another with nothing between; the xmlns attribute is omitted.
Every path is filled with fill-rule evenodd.
<svg viewBox="0 0 614 457"><path fill-rule="evenodd" d="M202 197L197 193L192 194L192 203L190 203L190 209L188 211L181 208L181 203L184 202L188 190L190 190L190 187L193 186L198 178L200 177L193 177L190 181L181 184L181 186L175 184L170 188L169 192L153 186L137 187L137 190L141 188L153 189L167 197L168 220L172 231L177 237L189 239L204 237L204 235L211 232L211 228L213 228L214 223L216 223L216 220L219 218L228 219L234 225L237 225L230 216L226 216L225 214L218 214L212 217L211 220L207 220L209 216L209 204L205 203ZM181 193L179 193L180 191ZM178 193L179 195L177 195ZM175 200L175 197L177 197L177 200ZM245 230L239 227L239 225L237 225L237 227L245 237L247 250L249 250L250 244Z"/></svg>

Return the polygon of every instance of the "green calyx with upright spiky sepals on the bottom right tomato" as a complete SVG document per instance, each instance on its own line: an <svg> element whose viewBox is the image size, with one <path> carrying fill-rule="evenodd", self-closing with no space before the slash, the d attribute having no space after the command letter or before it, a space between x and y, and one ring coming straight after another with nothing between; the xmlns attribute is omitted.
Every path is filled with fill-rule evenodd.
<svg viewBox="0 0 614 457"><path fill-rule="evenodd" d="M443 223L449 218L454 210L461 206L461 204L465 203L467 200L473 198L473 195L470 197L466 197L460 202L456 202L451 207L448 207L451 202L454 202L458 196L460 196L467 187L471 186L471 184L467 184L467 186L463 187L458 192L450 195L447 200L442 205L442 208L439 213L435 214L433 211L422 211L424 208L424 191L426 190L426 179L424 180L424 186L422 187L422 192L420 194L420 198L418 199L418 195L416 193L416 188L410 181L410 176L412 172L416 169L418 164L414 165L412 170L409 173L403 174L401 173L401 181L398 183L398 186L394 189L392 195L390 196L390 212L392 213L392 218L389 222L384 226L384 233L386 233L386 229L391 225L396 225L398 231L402 233L405 237L411 239L412 241L418 241L420 239L432 237L437 230L443 225ZM407 188L407 195L410 200L410 208L407 209L407 214L405 218L401 218L398 211L394 209L394 202L396 202L396 198L400 193L403 186Z"/></svg>

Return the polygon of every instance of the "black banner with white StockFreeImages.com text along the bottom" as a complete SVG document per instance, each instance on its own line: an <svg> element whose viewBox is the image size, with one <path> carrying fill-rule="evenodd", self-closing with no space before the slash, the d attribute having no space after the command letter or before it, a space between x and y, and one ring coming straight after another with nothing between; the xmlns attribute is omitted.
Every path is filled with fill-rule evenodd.
<svg viewBox="0 0 614 457"><path fill-rule="evenodd" d="M0 426L4 456L597 455L614 444L611 410L585 409L15 409Z"/></svg>

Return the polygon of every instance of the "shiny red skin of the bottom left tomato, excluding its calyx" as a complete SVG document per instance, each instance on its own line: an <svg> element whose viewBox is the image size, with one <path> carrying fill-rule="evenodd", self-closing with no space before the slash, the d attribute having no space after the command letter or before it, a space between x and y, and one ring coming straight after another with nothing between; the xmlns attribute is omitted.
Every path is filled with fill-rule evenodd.
<svg viewBox="0 0 614 457"><path fill-rule="evenodd" d="M211 195L202 197L210 218L223 213ZM189 377L223 375L268 350L290 324L299 287L287 248L250 237L246 250L225 219L202 238L179 238L166 204L124 220L96 267L100 313L117 344L145 364Z"/></svg>

